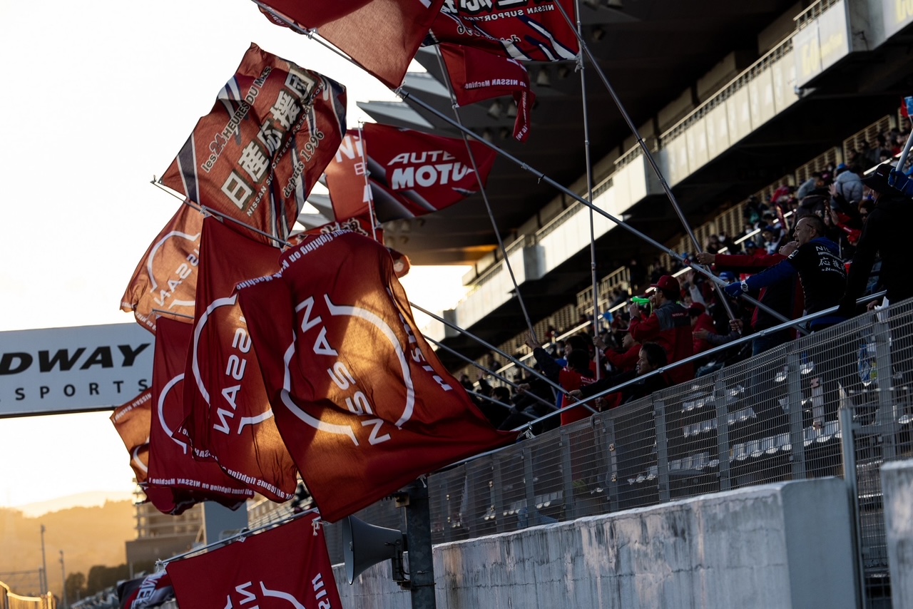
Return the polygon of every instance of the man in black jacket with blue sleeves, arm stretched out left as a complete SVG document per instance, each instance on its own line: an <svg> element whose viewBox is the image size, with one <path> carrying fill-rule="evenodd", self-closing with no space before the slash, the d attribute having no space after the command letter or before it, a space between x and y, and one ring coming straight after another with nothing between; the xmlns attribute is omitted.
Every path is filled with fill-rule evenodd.
<svg viewBox="0 0 913 609"><path fill-rule="evenodd" d="M805 297L806 315L837 306L846 289L846 268L839 256L839 247L826 234L827 226L819 216L803 216L793 233L795 241L782 249L787 256L785 260L740 283L730 284L725 288L726 292L737 297L743 292L756 292L798 274ZM809 329L821 330L843 320L843 316L827 315L812 320Z"/></svg>

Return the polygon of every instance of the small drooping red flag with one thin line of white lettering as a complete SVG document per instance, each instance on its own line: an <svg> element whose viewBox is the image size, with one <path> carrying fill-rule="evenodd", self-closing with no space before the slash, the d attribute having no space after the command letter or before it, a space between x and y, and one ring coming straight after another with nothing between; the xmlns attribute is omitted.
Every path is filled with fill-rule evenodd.
<svg viewBox="0 0 913 609"><path fill-rule="evenodd" d="M456 95L456 103L468 106L477 101L512 95L517 104L514 139L526 142L530 136L530 110L536 94L530 90L530 73L516 59L502 58L479 48L442 44L441 55Z"/></svg>

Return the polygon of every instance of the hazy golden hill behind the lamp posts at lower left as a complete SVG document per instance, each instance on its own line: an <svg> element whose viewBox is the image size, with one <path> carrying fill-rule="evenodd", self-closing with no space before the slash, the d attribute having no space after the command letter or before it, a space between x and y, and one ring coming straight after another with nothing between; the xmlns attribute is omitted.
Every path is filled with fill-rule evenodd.
<svg viewBox="0 0 913 609"><path fill-rule="evenodd" d="M131 501L62 509L37 518L29 518L19 509L0 508L0 580L4 580L4 572L41 567L42 524L46 529L47 583L51 592L59 594L62 590L61 550L68 574L88 575L89 568L96 564L122 564L126 562L124 542L136 539L134 514ZM15 585L13 588L16 592Z"/></svg>

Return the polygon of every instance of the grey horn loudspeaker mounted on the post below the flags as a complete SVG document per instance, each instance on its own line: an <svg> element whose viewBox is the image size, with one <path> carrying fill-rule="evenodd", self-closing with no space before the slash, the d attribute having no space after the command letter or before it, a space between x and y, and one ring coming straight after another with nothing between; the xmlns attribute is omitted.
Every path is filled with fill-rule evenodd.
<svg viewBox="0 0 913 609"><path fill-rule="evenodd" d="M394 562L394 580L404 579L404 550L405 535L400 530L376 527L354 516L342 521L342 552L350 584L361 572L387 559Z"/></svg>

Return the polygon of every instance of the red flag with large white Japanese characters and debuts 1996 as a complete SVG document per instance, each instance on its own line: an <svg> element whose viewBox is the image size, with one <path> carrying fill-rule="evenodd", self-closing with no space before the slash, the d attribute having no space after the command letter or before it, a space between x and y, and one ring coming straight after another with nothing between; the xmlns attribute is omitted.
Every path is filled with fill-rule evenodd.
<svg viewBox="0 0 913 609"><path fill-rule="evenodd" d="M344 134L341 84L252 44L161 182L285 239Z"/></svg>

